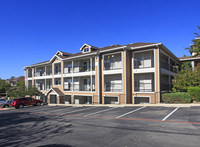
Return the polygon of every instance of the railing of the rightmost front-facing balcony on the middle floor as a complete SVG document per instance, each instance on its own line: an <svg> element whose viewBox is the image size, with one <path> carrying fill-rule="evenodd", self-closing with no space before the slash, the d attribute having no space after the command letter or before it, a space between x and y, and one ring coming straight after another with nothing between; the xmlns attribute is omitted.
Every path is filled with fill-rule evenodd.
<svg viewBox="0 0 200 147"><path fill-rule="evenodd" d="M135 85L137 85L138 82L135 82ZM135 92L153 92L154 88L152 83L139 83L138 86L134 87Z"/></svg>

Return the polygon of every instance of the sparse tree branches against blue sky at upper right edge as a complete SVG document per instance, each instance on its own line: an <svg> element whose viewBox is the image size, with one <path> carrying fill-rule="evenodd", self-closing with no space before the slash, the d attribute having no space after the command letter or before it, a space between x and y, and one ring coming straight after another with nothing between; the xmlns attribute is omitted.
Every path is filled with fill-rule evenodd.
<svg viewBox="0 0 200 147"><path fill-rule="evenodd" d="M199 31L200 31L200 26L197 26ZM196 53L197 55L200 55L200 35L198 33L194 33L196 35L197 38L193 39L192 42L193 44L186 48L189 50L190 53Z"/></svg>

